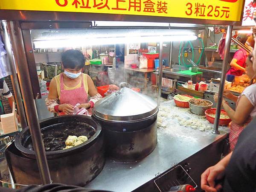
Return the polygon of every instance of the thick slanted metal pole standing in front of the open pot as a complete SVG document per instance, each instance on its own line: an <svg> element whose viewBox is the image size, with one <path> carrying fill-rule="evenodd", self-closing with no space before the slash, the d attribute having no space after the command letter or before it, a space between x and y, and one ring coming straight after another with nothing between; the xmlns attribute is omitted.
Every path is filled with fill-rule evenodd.
<svg viewBox="0 0 256 192"><path fill-rule="evenodd" d="M7 29L10 34L12 48L17 62L17 72L20 80L20 87L24 97L24 105L29 123L29 131L35 150L35 157L38 163L41 180L43 184L51 183L49 167L44 150L44 143L38 122L38 113L32 91L32 82L29 76L29 68L23 41L23 34L17 21L7 21Z"/></svg>

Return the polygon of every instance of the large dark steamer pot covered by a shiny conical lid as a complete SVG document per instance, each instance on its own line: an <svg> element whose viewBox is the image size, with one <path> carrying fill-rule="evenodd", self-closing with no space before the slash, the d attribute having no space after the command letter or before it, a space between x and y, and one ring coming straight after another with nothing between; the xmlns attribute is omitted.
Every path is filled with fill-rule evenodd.
<svg viewBox="0 0 256 192"><path fill-rule="evenodd" d="M116 161L146 157L157 145L157 103L127 87L97 102L93 117L102 125L107 154Z"/></svg>

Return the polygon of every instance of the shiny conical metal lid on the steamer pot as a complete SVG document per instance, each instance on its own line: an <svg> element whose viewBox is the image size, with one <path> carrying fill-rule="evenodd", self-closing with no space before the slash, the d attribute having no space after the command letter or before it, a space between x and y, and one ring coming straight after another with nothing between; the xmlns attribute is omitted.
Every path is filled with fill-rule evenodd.
<svg viewBox="0 0 256 192"><path fill-rule="evenodd" d="M93 116L107 121L137 121L158 112L157 102L127 87L96 102Z"/></svg>

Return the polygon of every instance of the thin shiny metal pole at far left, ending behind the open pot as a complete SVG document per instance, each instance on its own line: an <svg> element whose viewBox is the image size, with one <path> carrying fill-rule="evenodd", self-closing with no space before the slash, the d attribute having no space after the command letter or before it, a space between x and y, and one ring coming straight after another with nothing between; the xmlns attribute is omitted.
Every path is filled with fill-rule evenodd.
<svg viewBox="0 0 256 192"><path fill-rule="evenodd" d="M16 75L15 61L13 60L13 57L12 57L12 46L11 46L10 37L8 34L8 30L7 30L7 23L6 23L6 21L3 21L2 23L3 23L4 45L5 45L5 49L7 52L7 61L9 62L11 70L12 70L12 75L11 75L12 87L13 87L15 99L17 102L17 109L18 109L18 113L20 116L20 124L21 124L22 128L26 128L28 126L28 124L26 121L26 114L24 111L22 97L21 97L21 93L20 93L19 81L18 81L18 78Z"/></svg>

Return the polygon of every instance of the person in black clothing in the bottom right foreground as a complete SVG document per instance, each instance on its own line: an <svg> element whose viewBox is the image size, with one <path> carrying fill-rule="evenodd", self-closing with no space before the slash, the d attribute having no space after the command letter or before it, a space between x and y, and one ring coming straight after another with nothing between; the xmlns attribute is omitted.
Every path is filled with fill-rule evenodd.
<svg viewBox="0 0 256 192"><path fill-rule="evenodd" d="M218 180L224 179L224 183ZM256 118L241 132L233 152L201 175L207 192L256 192Z"/></svg>

